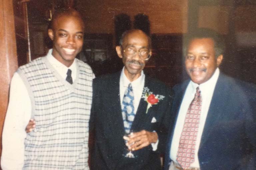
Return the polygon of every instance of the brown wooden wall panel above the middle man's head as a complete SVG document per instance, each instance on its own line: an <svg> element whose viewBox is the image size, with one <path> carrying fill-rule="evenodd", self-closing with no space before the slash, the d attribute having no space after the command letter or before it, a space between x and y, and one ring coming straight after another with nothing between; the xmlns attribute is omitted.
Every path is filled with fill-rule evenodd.
<svg viewBox="0 0 256 170"><path fill-rule="evenodd" d="M120 13L129 15L132 21L138 13L148 15L151 33L187 32L188 0L83 0L79 7L87 33L113 34L114 16Z"/></svg>

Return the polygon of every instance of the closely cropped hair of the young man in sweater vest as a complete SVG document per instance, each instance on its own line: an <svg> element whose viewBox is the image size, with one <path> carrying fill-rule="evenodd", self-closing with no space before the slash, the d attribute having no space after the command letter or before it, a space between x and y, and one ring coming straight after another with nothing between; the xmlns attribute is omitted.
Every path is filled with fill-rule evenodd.
<svg viewBox="0 0 256 170"><path fill-rule="evenodd" d="M67 9L60 8L60 9L57 9L56 11L54 11L49 28L53 29L53 23L57 20L57 18L59 18L60 16L64 16L64 15L65 16L75 16L77 18L80 18L82 21L83 27L84 27L84 22L83 22L82 16L77 10L75 10L73 8L67 8Z"/></svg>

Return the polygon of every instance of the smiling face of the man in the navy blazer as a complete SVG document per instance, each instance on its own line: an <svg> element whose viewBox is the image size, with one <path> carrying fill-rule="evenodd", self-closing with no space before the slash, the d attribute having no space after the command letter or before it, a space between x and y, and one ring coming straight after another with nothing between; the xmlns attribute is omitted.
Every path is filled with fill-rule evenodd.
<svg viewBox="0 0 256 170"><path fill-rule="evenodd" d="M214 41L210 38L193 39L188 44L185 66L194 83L208 81L220 65L223 55L215 57Z"/></svg>

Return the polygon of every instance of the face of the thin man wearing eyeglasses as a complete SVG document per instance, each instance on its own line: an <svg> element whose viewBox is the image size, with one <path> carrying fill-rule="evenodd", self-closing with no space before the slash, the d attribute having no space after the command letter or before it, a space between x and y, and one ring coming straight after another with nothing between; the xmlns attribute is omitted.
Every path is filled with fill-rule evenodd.
<svg viewBox="0 0 256 170"><path fill-rule="evenodd" d="M116 47L118 56L123 59L124 73L130 81L133 81L141 75L147 60L144 60L139 52L134 55L125 55L124 49L129 48L136 49L136 51L144 48L150 49L149 38L142 31L133 30L124 37L122 45ZM151 55L151 50L149 51Z"/></svg>

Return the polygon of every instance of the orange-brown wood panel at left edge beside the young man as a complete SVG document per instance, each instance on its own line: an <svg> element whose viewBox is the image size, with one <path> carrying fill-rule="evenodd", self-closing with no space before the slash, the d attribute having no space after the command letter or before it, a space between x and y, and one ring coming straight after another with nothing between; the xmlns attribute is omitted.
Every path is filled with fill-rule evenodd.
<svg viewBox="0 0 256 170"><path fill-rule="evenodd" d="M16 41L14 30L13 4L11 0L0 0L0 135L6 109L10 80L17 69ZM0 142L2 145L2 140ZM1 153L2 149L0 150Z"/></svg>

